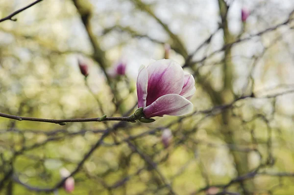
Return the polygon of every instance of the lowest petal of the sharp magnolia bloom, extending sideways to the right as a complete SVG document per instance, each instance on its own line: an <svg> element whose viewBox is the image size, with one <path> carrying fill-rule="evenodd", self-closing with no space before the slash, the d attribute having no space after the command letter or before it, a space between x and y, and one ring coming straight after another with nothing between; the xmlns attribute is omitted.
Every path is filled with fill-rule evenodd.
<svg viewBox="0 0 294 195"><path fill-rule="evenodd" d="M193 104L178 94L167 94L159 97L151 105L143 109L146 118L164 114L181 116L192 112Z"/></svg>

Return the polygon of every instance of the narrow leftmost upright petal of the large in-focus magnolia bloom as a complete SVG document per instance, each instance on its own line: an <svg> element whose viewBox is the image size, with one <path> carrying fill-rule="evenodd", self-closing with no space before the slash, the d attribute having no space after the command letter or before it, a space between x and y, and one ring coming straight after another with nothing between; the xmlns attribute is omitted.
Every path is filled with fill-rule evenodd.
<svg viewBox="0 0 294 195"><path fill-rule="evenodd" d="M139 73L137 78L138 108L146 107L147 86L148 86L147 68L145 65L141 65L139 68Z"/></svg>

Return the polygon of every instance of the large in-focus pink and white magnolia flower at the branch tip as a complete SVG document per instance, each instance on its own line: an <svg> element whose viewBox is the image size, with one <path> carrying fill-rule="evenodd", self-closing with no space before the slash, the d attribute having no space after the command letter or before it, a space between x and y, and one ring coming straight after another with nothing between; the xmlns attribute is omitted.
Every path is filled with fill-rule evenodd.
<svg viewBox="0 0 294 195"><path fill-rule="evenodd" d="M137 78L138 108L146 118L181 116L192 111L189 101L195 93L194 77L173 60L158 60L142 65Z"/></svg>

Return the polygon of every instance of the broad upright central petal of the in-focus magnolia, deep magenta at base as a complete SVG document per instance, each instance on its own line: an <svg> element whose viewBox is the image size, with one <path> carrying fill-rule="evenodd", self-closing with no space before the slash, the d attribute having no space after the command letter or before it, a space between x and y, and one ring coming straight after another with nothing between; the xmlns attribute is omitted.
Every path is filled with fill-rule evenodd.
<svg viewBox="0 0 294 195"><path fill-rule="evenodd" d="M173 60L158 60L147 66L147 103L151 105L166 94L179 94L184 85L183 68Z"/></svg>

